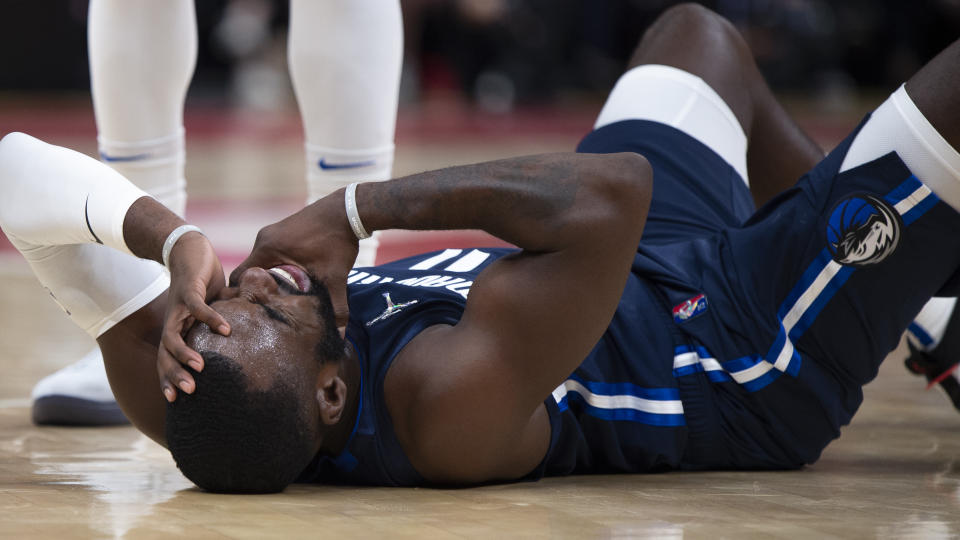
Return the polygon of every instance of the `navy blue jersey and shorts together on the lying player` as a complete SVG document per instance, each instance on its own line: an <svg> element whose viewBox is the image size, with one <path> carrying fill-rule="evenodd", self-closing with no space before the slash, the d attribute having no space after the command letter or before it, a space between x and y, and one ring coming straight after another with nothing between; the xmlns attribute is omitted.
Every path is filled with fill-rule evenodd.
<svg viewBox="0 0 960 540"><path fill-rule="evenodd" d="M546 396L551 441L529 478L819 457L926 300L960 281L960 216L895 154L839 173L855 135L756 212L737 173L674 128L627 120L581 142L647 157L653 198L609 328ZM350 274L362 409L344 455L305 479L423 483L384 377L421 330L457 323L476 275L506 253L445 250Z"/></svg>

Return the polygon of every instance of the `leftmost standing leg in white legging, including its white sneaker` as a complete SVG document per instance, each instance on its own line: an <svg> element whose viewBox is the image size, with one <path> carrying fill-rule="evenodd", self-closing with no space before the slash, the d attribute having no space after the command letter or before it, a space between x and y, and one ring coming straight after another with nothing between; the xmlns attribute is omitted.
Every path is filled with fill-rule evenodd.
<svg viewBox="0 0 960 540"><path fill-rule="evenodd" d="M197 56L193 1L92 0L88 42L101 159L183 216L183 103ZM98 348L41 380L32 396L38 424L125 422Z"/></svg>

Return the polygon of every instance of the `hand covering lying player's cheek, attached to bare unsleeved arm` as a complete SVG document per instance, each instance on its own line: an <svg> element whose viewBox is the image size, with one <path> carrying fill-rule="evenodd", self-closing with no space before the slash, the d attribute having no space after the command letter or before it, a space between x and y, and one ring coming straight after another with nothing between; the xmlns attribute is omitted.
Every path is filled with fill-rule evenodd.
<svg viewBox="0 0 960 540"><path fill-rule="evenodd" d="M260 229L250 255L230 273L230 283L238 283L240 276L252 267L300 266L326 285L342 336L350 314L347 274L357 259L357 251L357 237L347 222L343 196L337 192Z"/></svg>

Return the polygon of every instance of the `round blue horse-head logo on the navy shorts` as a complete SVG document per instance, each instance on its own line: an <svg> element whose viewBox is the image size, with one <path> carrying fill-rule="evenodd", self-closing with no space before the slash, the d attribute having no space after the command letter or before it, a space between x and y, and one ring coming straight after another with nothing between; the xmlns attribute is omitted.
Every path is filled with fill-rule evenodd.
<svg viewBox="0 0 960 540"><path fill-rule="evenodd" d="M830 212L827 247L840 264L877 264L896 251L902 226L900 214L886 202L873 195L851 195Z"/></svg>

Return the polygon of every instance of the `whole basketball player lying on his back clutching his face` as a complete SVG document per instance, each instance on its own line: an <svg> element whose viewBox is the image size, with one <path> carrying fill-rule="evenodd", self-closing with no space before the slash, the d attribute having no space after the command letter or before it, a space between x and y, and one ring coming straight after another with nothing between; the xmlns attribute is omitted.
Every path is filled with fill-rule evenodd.
<svg viewBox="0 0 960 540"><path fill-rule="evenodd" d="M26 135L0 143L0 224L98 336L131 421L208 490L796 468L957 294L958 87L960 42L824 158L733 27L681 6L579 153L341 190L262 230L230 286L174 214ZM759 201L783 191L755 211L748 177ZM519 250L351 270L357 237L390 228ZM121 251L169 254L169 291Z"/></svg>

